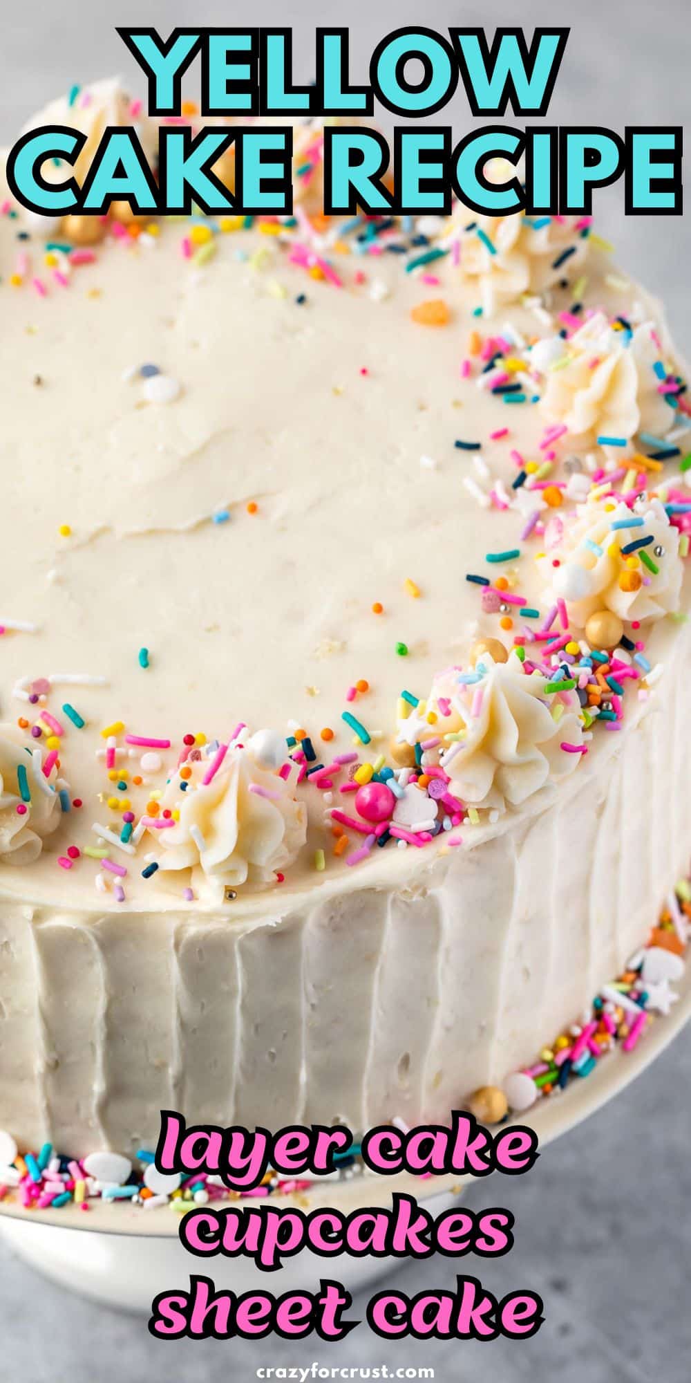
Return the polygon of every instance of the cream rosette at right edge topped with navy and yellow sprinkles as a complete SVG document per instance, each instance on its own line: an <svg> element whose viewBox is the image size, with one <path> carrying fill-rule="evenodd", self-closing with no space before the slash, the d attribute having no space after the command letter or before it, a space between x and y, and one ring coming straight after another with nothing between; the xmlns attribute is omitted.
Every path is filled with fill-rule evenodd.
<svg viewBox="0 0 691 1383"><path fill-rule="evenodd" d="M560 541L538 557L550 595L567 602L578 628L598 610L621 620L661 620L679 610L683 564L679 530L659 499L633 509L598 499L560 526Z"/></svg>

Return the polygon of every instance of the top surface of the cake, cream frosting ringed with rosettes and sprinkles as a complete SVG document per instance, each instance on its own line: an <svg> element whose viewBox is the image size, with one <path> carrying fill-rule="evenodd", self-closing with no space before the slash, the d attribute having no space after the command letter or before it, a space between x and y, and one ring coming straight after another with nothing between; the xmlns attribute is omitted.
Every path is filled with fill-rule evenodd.
<svg viewBox="0 0 691 1383"><path fill-rule="evenodd" d="M90 129L131 118L93 93ZM283 221L53 227L0 192L10 892L216 906L383 831L451 846L589 751L587 621L644 682L679 607L656 306L587 220L334 224L319 149Z"/></svg>

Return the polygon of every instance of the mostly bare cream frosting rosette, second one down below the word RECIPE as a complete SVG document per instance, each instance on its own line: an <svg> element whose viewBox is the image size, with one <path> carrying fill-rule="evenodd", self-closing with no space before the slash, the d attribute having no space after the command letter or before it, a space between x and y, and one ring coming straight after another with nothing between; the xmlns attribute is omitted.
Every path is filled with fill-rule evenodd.
<svg viewBox="0 0 691 1383"><path fill-rule="evenodd" d="M598 437L630 443L641 427L663 436L673 414L658 390L659 357L651 322L619 331L596 313L568 340L546 337L531 351L542 375L540 412L583 444Z"/></svg>

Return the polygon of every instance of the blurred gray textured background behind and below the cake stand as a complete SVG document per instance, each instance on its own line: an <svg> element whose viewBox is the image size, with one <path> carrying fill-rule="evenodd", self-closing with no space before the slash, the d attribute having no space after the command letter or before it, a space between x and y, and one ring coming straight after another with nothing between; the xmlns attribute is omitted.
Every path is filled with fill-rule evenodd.
<svg viewBox="0 0 691 1383"><path fill-rule="evenodd" d="M304 44L303 77L311 76L312 25L350 24L355 77L365 75L373 43L390 29L423 22L571 24L551 123L681 124L688 111L687 0L580 0L576 7L525 0L453 4L451 0L347 7L217 0L23 0L14 7L0 50L0 141L11 142L23 120L73 82L120 72L144 94L115 24L293 24L296 53ZM446 113L437 120L446 120ZM464 104L453 108L460 136ZM623 219L619 187L596 198L598 230L616 242L619 259L663 297L688 353L688 217ZM1 328L0 328L1 329ZM662 882L662 881L661 881ZM546 1034L549 1037L550 1034ZM673 1047L623 1095L561 1142L509 1188L492 1187L517 1218L514 1252L477 1271L498 1296L529 1286L546 1303L533 1340L478 1344L384 1346L355 1330L341 1347L191 1343L162 1346L142 1321L84 1306L35 1277L0 1246L0 1380L23 1383L220 1383L252 1379L260 1365L431 1365L437 1379L491 1376L498 1383L688 1383L691 1315L685 1301L691 1265L691 1037ZM475 1206L488 1192L474 1191ZM466 1271L473 1265L466 1260ZM463 1264L459 1265L463 1271ZM451 1286L453 1264L408 1264L397 1278L408 1293ZM359 1310L358 1310L359 1307ZM355 1303L362 1315L363 1301Z"/></svg>

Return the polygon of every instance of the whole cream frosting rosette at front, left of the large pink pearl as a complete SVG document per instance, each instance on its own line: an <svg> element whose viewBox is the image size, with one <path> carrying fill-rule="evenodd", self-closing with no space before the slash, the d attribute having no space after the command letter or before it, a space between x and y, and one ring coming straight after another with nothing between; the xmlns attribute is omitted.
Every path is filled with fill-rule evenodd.
<svg viewBox="0 0 691 1383"><path fill-rule="evenodd" d="M239 745L218 745L185 769L187 777L171 774L159 816L148 824L160 870L191 870L193 887L223 898L227 887L269 882L293 863L305 842L307 812L287 781Z"/></svg>

